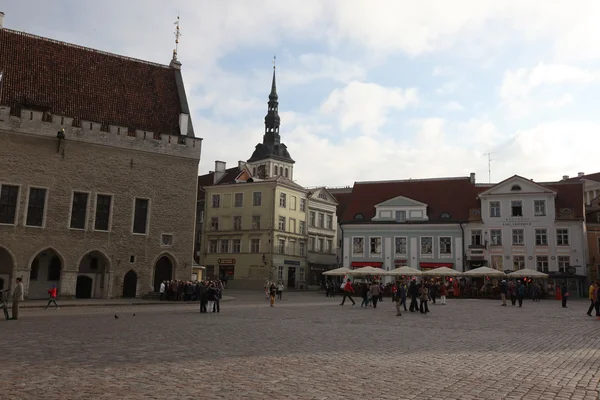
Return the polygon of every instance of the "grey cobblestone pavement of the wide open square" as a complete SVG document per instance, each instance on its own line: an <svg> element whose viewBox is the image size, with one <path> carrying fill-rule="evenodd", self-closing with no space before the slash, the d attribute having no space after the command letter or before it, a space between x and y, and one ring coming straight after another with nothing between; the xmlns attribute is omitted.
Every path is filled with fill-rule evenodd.
<svg viewBox="0 0 600 400"><path fill-rule="evenodd" d="M583 301L449 300L396 317L389 299L361 309L286 293L270 308L260 294L231 295L220 314L184 304L22 310L0 321L0 398L600 397L600 321Z"/></svg>

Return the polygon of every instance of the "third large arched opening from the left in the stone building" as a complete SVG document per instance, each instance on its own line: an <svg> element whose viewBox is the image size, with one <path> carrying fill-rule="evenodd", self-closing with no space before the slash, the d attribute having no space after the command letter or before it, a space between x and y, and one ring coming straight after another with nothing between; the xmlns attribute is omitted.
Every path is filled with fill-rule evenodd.
<svg viewBox="0 0 600 400"><path fill-rule="evenodd" d="M107 297L107 272L109 260L104 253L94 250L81 258L77 273L75 297L78 299L102 299Z"/></svg>

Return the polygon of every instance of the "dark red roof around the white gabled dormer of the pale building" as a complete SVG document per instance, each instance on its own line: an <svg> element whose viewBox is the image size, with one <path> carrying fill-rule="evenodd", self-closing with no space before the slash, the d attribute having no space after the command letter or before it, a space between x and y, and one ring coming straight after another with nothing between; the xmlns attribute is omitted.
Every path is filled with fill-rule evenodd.
<svg viewBox="0 0 600 400"><path fill-rule="evenodd" d="M375 205L397 196L408 197L428 205L430 222L456 222L469 219L469 209L479 208L477 194L481 188L469 178L423 179L384 182L357 182L354 184L343 222L353 221L362 214L363 221L375 216ZM449 213L450 219L442 219Z"/></svg>

